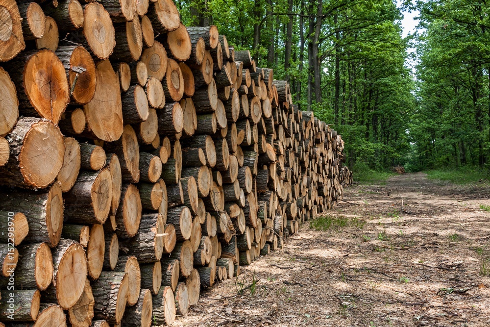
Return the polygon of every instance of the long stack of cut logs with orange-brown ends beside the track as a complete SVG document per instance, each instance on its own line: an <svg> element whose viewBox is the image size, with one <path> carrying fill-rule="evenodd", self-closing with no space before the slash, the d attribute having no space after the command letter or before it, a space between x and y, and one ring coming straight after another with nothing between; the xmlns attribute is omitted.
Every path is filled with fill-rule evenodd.
<svg viewBox="0 0 490 327"><path fill-rule="evenodd" d="M171 325L342 196L341 137L172 0L0 16L0 326Z"/></svg>

